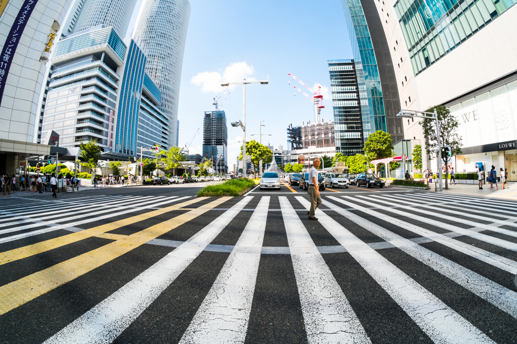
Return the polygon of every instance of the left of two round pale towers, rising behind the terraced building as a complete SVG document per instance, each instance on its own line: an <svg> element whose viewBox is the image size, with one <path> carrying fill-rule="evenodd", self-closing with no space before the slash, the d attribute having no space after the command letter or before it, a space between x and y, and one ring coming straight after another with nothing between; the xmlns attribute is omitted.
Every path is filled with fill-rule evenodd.
<svg viewBox="0 0 517 344"><path fill-rule="evenodd" d="M136 0L87 0L82 6L73 33L104 25L113 27L118 37L124 38L135 3Z"/></svg>

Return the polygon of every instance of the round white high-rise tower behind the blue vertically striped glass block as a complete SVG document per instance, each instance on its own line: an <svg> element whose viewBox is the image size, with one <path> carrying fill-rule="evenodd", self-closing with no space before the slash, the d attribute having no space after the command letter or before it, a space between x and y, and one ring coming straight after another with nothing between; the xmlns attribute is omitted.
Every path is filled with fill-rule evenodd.
<svg viewBox="0 0 517 344"><path fill-rule="evenodd" d="M145 72L162 93L160 110L170 123L170 146L177 144L179 82L189 17L188 0L145 0L133 35L147 56Z"/></svg>

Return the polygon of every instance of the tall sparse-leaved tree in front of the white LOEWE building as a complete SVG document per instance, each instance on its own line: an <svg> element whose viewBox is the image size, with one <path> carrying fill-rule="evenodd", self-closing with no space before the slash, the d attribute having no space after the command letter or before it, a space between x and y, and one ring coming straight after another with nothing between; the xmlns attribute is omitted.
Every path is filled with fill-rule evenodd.
<svg viewBox="0 0 517 344"><path fill-rule="evenodd" d="M448 162L451 160L452 155L461 154L461 136L458 133L458 127L460 122L451 115L451 112L444 105L433 106L426 112L434 112L436 109L436 115L438 117L438 126L440 134L440 146L450 147L450 157L445 153L445 150L440 152L440 157L445 163L445 189L448 189L447 175L449 174ZM431 156L438 155L438 138L436 136L436 122L434 119L424 119L420 121L420 125L423 129L423 135L425 137L425 150ZM439 173L439 171L438 171Z"/></svg>

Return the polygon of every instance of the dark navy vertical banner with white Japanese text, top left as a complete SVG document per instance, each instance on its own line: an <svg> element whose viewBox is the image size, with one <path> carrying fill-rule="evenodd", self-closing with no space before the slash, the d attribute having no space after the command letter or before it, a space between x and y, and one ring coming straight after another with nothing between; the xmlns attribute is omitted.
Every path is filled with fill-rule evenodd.
<svg viewBox="0 0 517 344"><path fill-rule="evenodd" d="M22 37L25 25L27 25L27 21L31 17L32 11L37 3L38 0L25 0L16 19L14 19L9 35L7 35L2 54L0 55L0 105L2 105L2 98L6 86L5 82L9 74L9 69L11 68L14 52L16 48L18 48L18 42Z"/></svg>

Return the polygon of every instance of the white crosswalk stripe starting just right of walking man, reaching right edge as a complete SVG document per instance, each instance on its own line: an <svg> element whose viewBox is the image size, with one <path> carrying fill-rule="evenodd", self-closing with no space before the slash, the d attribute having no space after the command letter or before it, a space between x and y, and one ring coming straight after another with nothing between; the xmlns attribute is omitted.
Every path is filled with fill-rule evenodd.
<svg viewBox="0 0 517 344"><path fill-rule="evenodd" d="M334 201L340 201L335 197L329 197ZM505 288L492 280L479 275L478 273L469 270L462 265L451 261L443 256L434 253L430 249L427 249L419 244L405 239L386 228L383 228L371 221L366 220L351 211L338 207L333 203L323 200L323 204L330 209L336 211L338 214L344 216L349 221L352 221L362 228L372 232L379 238L386 240L395 247L398 247L403 252L419 260L420 262L428 265L436 272L444 275L445 277L453 280L461 287L469 290L476 294L481 299L484 299L497 308L507 312L514 318L517 318L517 293ZM344 205L360 210L364 213L368 212L368 208L353 205L350 202L343 201Z"/></svg>

